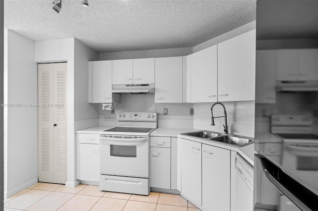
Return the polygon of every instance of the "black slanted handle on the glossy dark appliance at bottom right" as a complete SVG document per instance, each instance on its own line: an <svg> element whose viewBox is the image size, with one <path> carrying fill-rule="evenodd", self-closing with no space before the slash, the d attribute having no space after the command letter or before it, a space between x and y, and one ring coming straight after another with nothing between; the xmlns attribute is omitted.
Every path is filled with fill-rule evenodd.
<svg viewBox="0 0 318 211"><path fill-rule="evenodd" d="M260 162L261 168L269 181L271 181L302 211L312 211L311 208L317 207L318 196L315 193L311 192L298 181L287 175L279 166L275 165L264 156L255 154L254 158L257 158Z"/></svg>

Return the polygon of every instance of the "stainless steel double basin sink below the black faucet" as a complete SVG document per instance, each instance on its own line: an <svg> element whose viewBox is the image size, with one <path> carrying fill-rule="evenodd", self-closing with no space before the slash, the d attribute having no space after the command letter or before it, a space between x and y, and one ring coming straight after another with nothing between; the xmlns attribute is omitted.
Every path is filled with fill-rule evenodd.
<svg viewBox="0 0 318 211"><path fill-rule="evenodd" d="M182 135L186 136L193 136L197 138L207 139L211 141L217 141L222 142L229 145L236 145L238 147L242 147L248 144L253 143L254 141L251 139L248 139L243 136L237 136L237 135L229 135L229 134L221 134L211 131L197 131L197 132L190 132L190 133L182 133Z"/></svg>

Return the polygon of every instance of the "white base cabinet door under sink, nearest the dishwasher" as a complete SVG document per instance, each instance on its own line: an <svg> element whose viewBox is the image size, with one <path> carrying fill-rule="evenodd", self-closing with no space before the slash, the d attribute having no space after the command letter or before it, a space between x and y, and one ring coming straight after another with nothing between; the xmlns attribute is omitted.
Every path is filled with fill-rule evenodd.
<svg viewBox="0 0 318 211"><path fill-rule="evenodd" d="M202 144L202 207L230 210L230 150Z"/></svg>

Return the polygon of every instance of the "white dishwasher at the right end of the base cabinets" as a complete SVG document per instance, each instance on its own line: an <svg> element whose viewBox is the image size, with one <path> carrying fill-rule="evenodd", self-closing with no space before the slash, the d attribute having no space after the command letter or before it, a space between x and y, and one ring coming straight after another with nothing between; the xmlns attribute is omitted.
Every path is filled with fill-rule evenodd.
<svg viewBox="0 0 318 211"><path fill-rule="evenodd" d="M253 166L235 155L236 211L253 210Z"/></svg>

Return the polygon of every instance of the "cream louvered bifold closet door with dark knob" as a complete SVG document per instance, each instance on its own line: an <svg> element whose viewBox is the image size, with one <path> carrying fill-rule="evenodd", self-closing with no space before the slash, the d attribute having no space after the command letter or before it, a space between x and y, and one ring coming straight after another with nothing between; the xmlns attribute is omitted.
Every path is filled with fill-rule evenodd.
<svg viewBox="0 0 318 211"><path fill-rule="evenodd" d="M67 179L67 63L39 64L39 182Z"/></svg>

